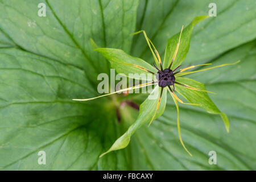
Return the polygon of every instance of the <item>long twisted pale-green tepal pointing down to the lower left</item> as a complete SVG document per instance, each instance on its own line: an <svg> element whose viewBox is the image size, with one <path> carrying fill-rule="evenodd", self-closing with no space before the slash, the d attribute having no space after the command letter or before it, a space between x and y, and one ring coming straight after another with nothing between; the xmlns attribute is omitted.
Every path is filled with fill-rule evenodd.
<svg viewBox="0 0 256 182"><path fill-rule="evenodd" d="M148 96L147 99L139 107L139 115L136 121L133 123L133 125L129 127L129 129L126 131L125 134L123 134L121 137L115 140L114 144L109 148L109 150L100 155L100 158L111 151L119 150L127 147L127 145L130 143L131 135L133 135L134 132L137 129L139 129L139 127L141 127L145 123L149 123L152 117L154 117L153 111L156 110L159 97L160 97L160 88L157 85L155 86L154 90L151 92L150 96ZM166 98L167 98L167 89L164 89L162 100L159 105L159 110L156 113L154 119L158 118L160 115L163 114L164 109L166 107Z"/></svg>

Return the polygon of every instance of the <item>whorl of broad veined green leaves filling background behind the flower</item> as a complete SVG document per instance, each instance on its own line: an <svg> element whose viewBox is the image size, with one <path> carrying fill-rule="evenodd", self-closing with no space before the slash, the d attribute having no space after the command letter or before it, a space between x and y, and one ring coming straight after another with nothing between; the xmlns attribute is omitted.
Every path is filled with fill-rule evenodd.
<svg viewBox="0 0 256 182"><path fill-rule="evenodd" d="M42 2L46 17L37 15ZM218 115L180 105L181 134L192 158L179 142L171 98L161 117L134 132L127 148L102 158L138 117L138 111L121 100L141 104L146 96L72 101L96 96L97 74L109 72L90 38L99 47L122 49L150 63L143 36L130 36L137 13L137 30L145 30L163 56L167 39L195 16L208 14L210 2L142 0L138 6L135 0L1 0L0 169L255 170L255 41L241 46L256 37L253 0L215 1L217 17L193 30L183 64L213 57L210 63L216 65L241 64L188 75L217 93L209 97L230 119L227 134ZM38 164L42 150L46 165ZM217 165L208 163L212 150Z"/></svg>

